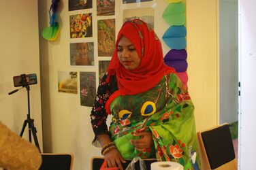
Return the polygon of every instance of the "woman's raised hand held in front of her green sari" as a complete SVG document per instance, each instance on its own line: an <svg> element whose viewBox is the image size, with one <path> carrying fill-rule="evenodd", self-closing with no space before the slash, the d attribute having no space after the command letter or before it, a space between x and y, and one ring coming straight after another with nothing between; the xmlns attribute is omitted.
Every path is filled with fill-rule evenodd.
<svg viewBox="0 0 256 170"><path fill-rule="evenodd" d="M135 150L141 152L150 150L153 145L152 133L150 131L133 133L133 136L140 136L140 139L131 139L131 144L135 147Z"/></svg>

